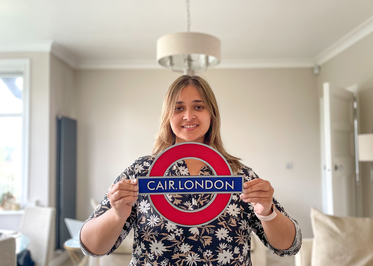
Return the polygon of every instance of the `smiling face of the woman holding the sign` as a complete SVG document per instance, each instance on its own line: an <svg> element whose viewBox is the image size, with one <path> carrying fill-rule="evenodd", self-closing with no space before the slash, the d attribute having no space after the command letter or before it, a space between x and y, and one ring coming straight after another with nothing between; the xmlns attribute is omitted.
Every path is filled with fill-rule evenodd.
<svg viewBox="0 0 373 266"><path fill-rule="evenodd" d="M183 88L170 119L171 129L176 135L175 143L203 143L210 123L211 115L198 90L192 85Z"/></svg>

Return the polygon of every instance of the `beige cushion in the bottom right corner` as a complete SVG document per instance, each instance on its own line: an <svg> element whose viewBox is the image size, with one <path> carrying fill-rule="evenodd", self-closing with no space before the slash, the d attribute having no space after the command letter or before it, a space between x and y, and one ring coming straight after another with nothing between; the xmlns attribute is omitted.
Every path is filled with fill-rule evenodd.
<svg viewBox="0 0 373 266"><path fill-rule="evenodd" d="M373 219L338 217L311 209L312 266L373 265Z"/></svg>

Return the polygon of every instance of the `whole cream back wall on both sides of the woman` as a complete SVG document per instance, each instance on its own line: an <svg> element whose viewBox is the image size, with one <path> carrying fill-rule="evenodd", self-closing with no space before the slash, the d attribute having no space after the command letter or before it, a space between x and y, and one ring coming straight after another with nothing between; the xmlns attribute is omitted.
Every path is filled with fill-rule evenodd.
<svg viewBox="0 0 373 266"><path fill-rule="evenodd" d="M316 77L310 69L213 69L222 137L231 154L269 180L275 197L311 236L310 207L321 208ZM91 214L135 158L151 153L168 70L79 70L78 219ZM293 163L291 170L286 169Z"/></svg>

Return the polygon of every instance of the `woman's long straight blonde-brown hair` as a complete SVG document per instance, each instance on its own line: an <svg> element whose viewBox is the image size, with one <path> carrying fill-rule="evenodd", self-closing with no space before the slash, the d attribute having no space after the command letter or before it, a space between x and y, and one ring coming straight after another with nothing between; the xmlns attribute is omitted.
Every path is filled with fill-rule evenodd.
<svg viewBox="0 0 373 266"><path fill-rule="evenodd" d="M220 152L228 161L232 171L237 173L237 171L241 169L241 163L239 162L240 159L231 156L224 149L220 136L220 114L215 94L208 83L198 76L181 76L169 87L162 107L161 123L159 133L153 147L153 155L157 156L159 153L175 144L176 137L171 129L170 119L175 110L175 105L179 99L181 90L189 85L192 85L198 90L202 100L206 104L207 110L211 115L211 124L205 134L204 144L207 144Z"/></svg>

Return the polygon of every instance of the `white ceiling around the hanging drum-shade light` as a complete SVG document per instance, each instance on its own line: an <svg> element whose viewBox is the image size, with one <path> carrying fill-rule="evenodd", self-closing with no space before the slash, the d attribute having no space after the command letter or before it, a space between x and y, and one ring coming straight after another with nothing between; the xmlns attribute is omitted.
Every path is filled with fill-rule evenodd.
<svg viewBox="0 0 373 266"><path fill-rule="evenodd" d="M219 67L308 67L373 32L371 0L191 0L191 31L221 40ZM75 68L159 67L186 31L184 0L2 0L0 52L52 51Z"/></svg>

